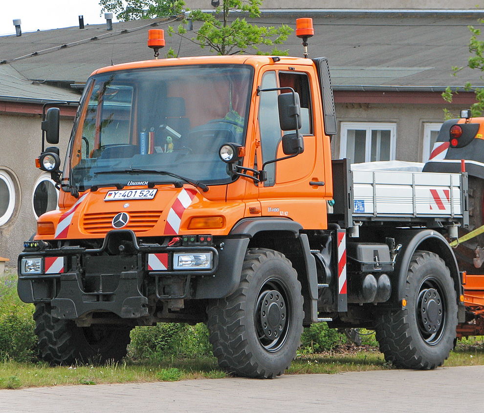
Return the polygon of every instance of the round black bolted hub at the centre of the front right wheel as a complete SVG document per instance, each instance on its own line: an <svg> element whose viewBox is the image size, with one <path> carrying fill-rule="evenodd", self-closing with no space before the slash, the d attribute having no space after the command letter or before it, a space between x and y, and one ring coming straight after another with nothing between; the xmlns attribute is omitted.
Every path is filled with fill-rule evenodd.
<svg viewBox="0 0 484 413"><path fill-rule="evenodd" d="M264 335L272 340L280 337L286 326L286 303L279 291L267 291L262 300L261 326Z"/></svg>

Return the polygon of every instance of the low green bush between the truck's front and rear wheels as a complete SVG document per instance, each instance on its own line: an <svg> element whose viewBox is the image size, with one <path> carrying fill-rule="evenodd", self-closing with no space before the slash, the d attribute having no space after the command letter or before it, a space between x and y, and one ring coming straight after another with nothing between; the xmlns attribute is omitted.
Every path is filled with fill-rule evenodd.
<svg viewBox="0 0 484 413"><path fill-rule="evenodd" d="M330 351L335 346L344 344L347 338L336 329L330 329L326 323L311 324L301 336L301 350L308 353Z"/></svg>

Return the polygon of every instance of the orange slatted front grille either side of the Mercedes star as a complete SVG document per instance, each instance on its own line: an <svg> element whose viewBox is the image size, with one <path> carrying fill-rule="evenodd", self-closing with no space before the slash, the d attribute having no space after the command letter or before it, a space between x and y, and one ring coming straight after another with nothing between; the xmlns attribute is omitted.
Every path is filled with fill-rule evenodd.
<svg viewBox="0 0 484 413"><path fill-rule="evenodd" d="M146 232L153 228L161 215L162 211L140 211L128 212L130 220L122 229L131 229L132 231ZM105 234L112 227L112 219L116 212L100 212L85 214L82 221L84 231L88 234Z"/></svg>

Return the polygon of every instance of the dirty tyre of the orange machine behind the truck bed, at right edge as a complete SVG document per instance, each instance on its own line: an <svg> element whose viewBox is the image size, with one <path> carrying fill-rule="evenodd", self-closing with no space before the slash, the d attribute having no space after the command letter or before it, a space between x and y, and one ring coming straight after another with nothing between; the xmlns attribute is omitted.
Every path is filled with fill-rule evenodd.
<svg viewBox="0 0 484 413"><path fill-rule="evenodd" d="M469 176L469 227L459 228L459 237L484 225L484 179ZM475 250L484 248L484 234L471 238L454 250L459 268L468 274L482 274L483 267L474 266Z"/></svg>

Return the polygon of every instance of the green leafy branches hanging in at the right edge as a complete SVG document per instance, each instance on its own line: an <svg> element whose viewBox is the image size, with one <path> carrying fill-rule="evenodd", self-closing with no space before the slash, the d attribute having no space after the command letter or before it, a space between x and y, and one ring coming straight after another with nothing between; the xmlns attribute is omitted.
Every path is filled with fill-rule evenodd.
<svg viewBox="0 0 484 413"><path fill-rule="evenodd" d="M481 23L484 23L484 20L481 20ZM469 31L471 32L472 36L469 41L469 52L471 55L467 60L466 66L453 66L452 71L454 76L457 75L462 69L465 67L469 67L470 69L477 69L481 72L484 72L484 40L480 40L478 37L481 35L481 29L476 29L474 26L469 26ZM484 75L481 75L481 80L484 82ZM484 87L473 86L470 82L465 83L463 86L463 90L473 91L476 94L477 102L472 104L470 107L472 116L481 116L484 111ZM454 93L458 93L459 90L452 92L451 88L447 86L445 92L442 93L442 97L446 102L452 103L452 99ZM452 118L453 116L447 109L444 109L446 118Z"/></svg>

